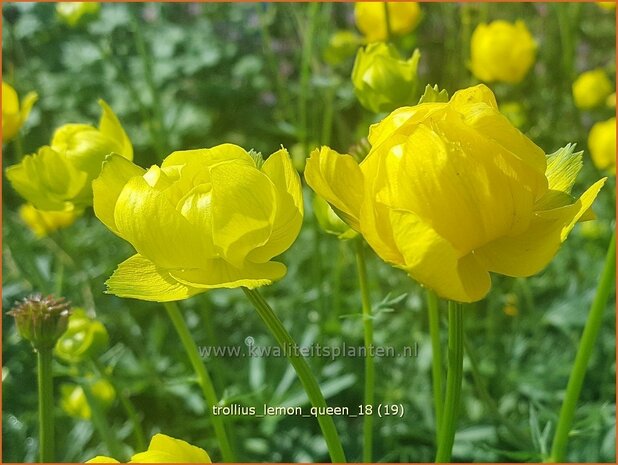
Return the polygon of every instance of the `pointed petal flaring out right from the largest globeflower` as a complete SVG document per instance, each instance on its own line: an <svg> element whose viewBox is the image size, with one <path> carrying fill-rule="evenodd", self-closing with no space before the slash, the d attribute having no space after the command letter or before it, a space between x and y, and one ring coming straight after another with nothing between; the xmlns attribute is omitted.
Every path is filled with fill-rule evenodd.
<svg viewBox="0 0 618 465"><path fill-rule="evenodd" d="M490 271L507 276L531 276L554 257L575 223L588 211L605 179L594 183L572 205L539 212L530 228L514 237L499 238L475 250Z"/></svg>

